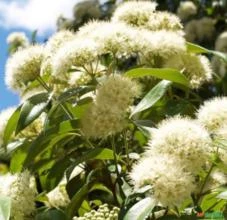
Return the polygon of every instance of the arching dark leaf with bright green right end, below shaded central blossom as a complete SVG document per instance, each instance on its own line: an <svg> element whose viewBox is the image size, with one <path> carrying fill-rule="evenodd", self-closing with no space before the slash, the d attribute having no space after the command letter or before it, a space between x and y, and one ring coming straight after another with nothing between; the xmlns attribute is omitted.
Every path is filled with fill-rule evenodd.
<svg viewBox="0 0 227 220"><path fill-rule="evenodd" d="M78 158L73 164L70 166L70 168L66 171L67 179L69 179L71 172L73 171L74 167L79 165L80 163L83 163L88 160L113 160L114 159L114 153L111 149L108 148L95 148L92 150L87 151L84 153L80 158Z"/></svg>

